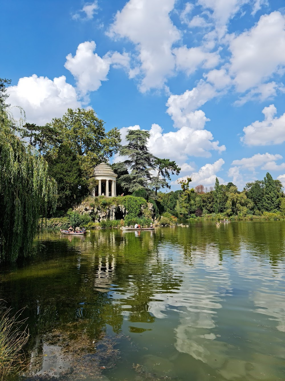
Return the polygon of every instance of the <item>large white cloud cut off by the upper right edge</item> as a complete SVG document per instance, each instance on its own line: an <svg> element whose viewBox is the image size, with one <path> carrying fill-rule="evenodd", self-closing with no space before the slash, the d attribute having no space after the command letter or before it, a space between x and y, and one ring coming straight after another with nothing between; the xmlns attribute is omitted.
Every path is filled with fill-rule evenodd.
<svg viewBox="0 0 285 381"><path fill-rule="evenodd" d="M261 16L252 29L231 40L229 49L237 91L258 86L285 67L285 17L277 11Z"/></svg>

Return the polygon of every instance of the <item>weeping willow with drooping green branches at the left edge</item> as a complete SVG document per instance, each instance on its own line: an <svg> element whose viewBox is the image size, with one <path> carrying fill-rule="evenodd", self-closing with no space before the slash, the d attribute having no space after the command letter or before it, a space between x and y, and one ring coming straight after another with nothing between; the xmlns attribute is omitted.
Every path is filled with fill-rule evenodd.
<svg viewBox="0 0 285 381"><path fill-rule="evenodd" d="M56 182L38 150L15 134L15 121L0 108L0 261L32 252L39 218L55 207Z"/></svg>

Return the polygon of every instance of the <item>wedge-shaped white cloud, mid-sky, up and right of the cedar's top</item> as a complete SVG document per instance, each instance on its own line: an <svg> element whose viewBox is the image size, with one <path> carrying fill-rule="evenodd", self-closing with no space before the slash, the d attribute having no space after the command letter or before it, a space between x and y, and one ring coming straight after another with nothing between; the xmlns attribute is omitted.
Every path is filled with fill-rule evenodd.
<svg viewBox="0 0 285 381"><path fill-rule="evenodd" d="M171 95L166 103L168 106L166 112L171 116L176 127L190 126L203 129L209 119L202 110L197 108L216 95L214 86L201 80L192 90L186 90L180 95Z"/></svg>

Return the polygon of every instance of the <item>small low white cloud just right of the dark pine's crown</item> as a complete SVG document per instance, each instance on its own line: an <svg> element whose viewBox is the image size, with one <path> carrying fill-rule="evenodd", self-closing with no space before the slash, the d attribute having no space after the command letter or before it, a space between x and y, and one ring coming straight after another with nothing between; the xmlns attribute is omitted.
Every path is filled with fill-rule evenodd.
<svg viewBox="0 0 285 381"><path fill-rule="evenodd" d="M191 186L196 186L198 184L203 184L204 186L214 186L217 172L222 170L222 166L225 164L223 159L219 159L214 164L206 164L202 166L198 172L189 173L188 176L180 177L176 181L171 182L171 184L178 184L179 181L187 180L187 177L192 178ZM218 177L220 183L225 181Z"/></svg>

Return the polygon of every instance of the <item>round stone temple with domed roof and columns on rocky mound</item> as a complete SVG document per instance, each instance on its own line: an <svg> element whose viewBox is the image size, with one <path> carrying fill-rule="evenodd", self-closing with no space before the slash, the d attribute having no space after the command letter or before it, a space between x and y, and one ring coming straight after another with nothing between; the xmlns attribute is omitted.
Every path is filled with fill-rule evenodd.
<svg viewBox="0 0 285 381"><path fill-rule="evenodd" d="M93 196L116 197L116 179L118 175L106 163L100 163L94 168L95 180L99 184L93 189Z"/></svg>

